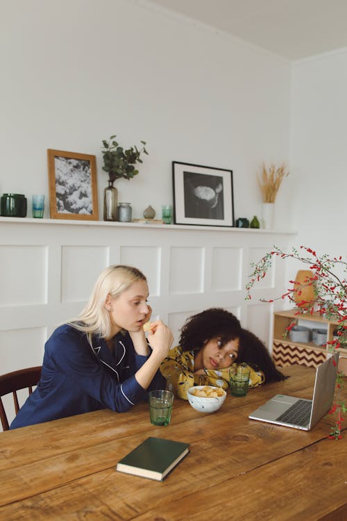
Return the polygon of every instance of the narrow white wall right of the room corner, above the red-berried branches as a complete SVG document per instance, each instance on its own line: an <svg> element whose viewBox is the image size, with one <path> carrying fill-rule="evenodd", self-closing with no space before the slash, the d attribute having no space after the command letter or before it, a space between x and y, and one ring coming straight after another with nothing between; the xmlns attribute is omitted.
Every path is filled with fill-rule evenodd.
<svg viewBox="0 0 347 521"><path fill-rule="evenodd" d="M296 244L347 254L347 49L294 64L292 209Z"/></svg>

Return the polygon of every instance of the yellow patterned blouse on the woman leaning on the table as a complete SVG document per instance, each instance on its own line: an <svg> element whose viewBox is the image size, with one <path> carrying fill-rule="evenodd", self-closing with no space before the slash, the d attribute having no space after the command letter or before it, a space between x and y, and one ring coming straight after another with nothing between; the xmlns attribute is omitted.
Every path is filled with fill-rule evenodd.
<svg viewBox="0 0 347 521"><path fill-rule="evenodd" d="M251 370L250 388L264 383L265 377L262 371L255 371L252 367L249 369ZM182 352L180 346L170 349L169 356L160 365L160 371L167 379L167 388L173 390L178 398L185 400L187 390L192 386L215 386L228 389L229 370L230 367L221 370L205 369L203 375L194 374L194 352Z"/></svg>

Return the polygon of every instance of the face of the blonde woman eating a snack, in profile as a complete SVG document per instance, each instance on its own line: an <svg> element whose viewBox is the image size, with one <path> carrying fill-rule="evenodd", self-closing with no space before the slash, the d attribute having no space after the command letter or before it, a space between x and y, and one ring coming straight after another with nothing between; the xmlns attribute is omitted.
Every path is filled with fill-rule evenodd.
<svg viewBox="0 0 347 521"><path fill-rule="evenodd" d="M146 281L134 282L119 297L113 299L108 296L106 307L110 311L110 320L113 329L139 331L151 316L151 307L147 303L149 287ZM111 311L113 310L113 311Z"/></svg>

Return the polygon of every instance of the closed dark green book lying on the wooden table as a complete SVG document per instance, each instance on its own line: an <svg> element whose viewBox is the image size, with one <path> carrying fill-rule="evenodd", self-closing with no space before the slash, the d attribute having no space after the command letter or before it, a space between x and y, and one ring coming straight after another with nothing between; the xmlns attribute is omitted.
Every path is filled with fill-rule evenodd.
<svg viewBox="0 0 347 521"><path fill-rule="evenodd" d="M188 447L189 443L180 441L146 438L117 463L116 470L162 481L188 454Z"/></svg>

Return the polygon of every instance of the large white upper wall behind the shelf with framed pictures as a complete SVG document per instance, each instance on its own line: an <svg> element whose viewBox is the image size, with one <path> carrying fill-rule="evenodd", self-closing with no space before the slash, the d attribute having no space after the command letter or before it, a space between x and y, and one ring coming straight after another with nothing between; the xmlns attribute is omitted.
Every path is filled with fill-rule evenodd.
<svg viewBox="0 0 347 521"><path fill-rule="evenodd" d="M101 140L115 133L125 147L148 143L139 176L117 182L133 217L171 201L172 160L232 169L235 218L260 216L257 169L289 156L289 62L149 2L0 10L1 193L48 195L47 148L95 154L102 219ZM288 229L286 190L277 218Z"/></svg>

